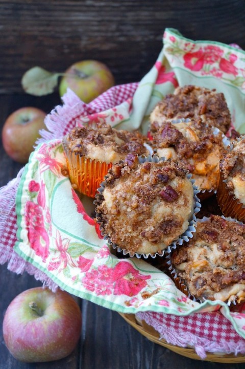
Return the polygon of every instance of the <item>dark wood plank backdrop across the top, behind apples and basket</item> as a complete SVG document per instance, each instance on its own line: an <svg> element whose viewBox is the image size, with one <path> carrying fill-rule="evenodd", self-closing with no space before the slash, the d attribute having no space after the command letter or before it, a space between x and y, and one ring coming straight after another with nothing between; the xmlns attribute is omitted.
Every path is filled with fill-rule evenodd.
<svg viewBox="0 0 245 369"><path fill-rule="evenodd" d="M0 0L0 93L23 93L21 76L36 65L63 72L90 58L105 62L117 84L138 81L155 62L166 27L245 48L244 5L244 0Z"/></svg>

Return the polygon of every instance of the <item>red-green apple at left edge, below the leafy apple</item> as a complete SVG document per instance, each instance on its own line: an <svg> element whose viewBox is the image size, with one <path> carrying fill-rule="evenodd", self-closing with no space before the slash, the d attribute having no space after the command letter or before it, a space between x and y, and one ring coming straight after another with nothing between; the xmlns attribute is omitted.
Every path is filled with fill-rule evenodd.
<svg viewBox="0 0 245 369"><path fill-rule="evenodd" d="M27 163L41 128L46 128L46 113L36 107L21 107L4 123L2 141L6 153L19 163Z"/></svg>

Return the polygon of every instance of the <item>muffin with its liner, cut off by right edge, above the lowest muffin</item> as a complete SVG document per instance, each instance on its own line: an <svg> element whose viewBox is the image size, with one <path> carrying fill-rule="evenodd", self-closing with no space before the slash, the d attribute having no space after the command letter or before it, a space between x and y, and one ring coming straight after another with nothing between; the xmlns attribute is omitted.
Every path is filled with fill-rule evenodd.
<svg viewBox="0 0 245 369"><path fill-rule="evenodd" d="M245 136L233 142L220 160L217 202L225 216L245 221Z"/></svg>

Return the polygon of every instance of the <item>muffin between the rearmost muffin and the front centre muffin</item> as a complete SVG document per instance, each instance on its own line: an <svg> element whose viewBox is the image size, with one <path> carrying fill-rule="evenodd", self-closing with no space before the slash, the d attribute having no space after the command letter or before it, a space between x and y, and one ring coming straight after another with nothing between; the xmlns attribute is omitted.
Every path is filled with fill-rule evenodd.
<svg viewBox="0 0 245 369"><path fill-rule="evenodd" d="M152 147L159 157L171 158L192 173L195 185L207 196L219 182L219 160L228 140L217 128L198 119L166 121L152 135ZM204 195L203 195L204 197Z"/></svg>

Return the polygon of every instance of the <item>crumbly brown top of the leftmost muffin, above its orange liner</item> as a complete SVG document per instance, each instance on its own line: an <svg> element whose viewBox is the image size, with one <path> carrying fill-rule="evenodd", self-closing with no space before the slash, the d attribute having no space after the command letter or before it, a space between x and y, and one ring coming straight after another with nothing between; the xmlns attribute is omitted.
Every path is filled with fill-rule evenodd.
<svg viewBox="0 0 245 369"><path fill-rule="evenodd" d="M118 131L104 122L96 127L74 127L66 137L66 145L73 153L107 164L116 163L129 153L149 155L144 142L146 138L139 132Z"/></svg>

